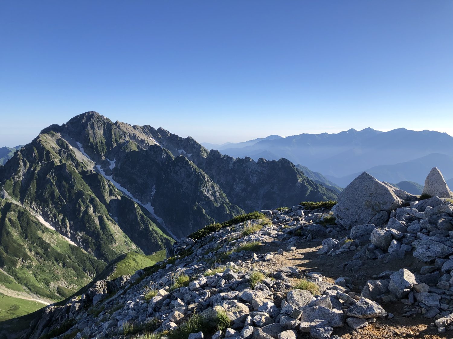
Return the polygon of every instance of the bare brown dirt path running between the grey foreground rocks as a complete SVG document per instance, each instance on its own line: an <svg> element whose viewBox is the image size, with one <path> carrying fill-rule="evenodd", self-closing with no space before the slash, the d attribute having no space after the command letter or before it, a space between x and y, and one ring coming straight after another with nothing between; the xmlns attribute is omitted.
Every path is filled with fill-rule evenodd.
<svg viewBox="0 0 453 339"><path fill-rule="evenodd" d="M417 261L412 255L406 255L405 259L391 263L383 263L379 260L363 258L363 266L353 273L342 268L341 264L353 260L352 257L357 251L347 252L336 256L319 255L316 252L321 248L321 242L300 241L296 243L296 250L288 252L287 243L284 241L271 241L263 243L257 254L268 251L276 252L279 248L284 250L283 254L274 257L264 263L260 263L263 271L276 271L280 267L294 266L305 272L319 272L327 277L328 282L338 277L349 277L352 279L353 292L360 293L361 287L367 280L377 279L377 275L386 271L396 271L400 268L408 268L411 271L418 271L422 263ZM340 265L340 267L338 267ZM373 276L375 276L373 278ZM378 339L378 338L424 338L439 339L451 338L451 333L438 334L437 327L431 328L434 324L433 319L424 318L421 315L413 317L402 317L405 313L404 305L399 301L396 303L382 304L387 312L392 313L394 318L391 320L379 319L376 323L370 324L360 330L352 330L346 324L342 328L336 328L333 334L342 336L343 339ZM299 338L309 338L308 334L299 335Z"/></svg>

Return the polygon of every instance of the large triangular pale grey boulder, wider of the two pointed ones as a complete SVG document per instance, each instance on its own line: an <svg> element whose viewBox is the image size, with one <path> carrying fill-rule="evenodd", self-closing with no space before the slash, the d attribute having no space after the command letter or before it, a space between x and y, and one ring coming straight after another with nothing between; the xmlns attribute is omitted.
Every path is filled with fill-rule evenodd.
<svg viewBox="0 0 453 339"><path fill-rule="evenodd" d="M346 228L382 225L388 221L390 212L402 203L392 188L363 172L342 191L332 211L337 224Z"/></svg>

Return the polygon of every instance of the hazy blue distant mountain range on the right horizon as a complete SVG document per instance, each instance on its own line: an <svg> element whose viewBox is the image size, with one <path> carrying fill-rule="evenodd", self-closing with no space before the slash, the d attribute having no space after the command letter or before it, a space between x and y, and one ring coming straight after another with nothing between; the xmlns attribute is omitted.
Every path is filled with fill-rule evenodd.
<svg viewBox="0 0 453 339"><path fill-rule="evenodd" d="M249 156L257 160L284 157L318 172L325 179L345 187L362 171L391 183L413 181L424 184L426 173L438 167L446 178L453 177L453 137L434 131L389 132L366 128L336 134L270 136L220 147L222 154ZM322 181L322 180L321 180Z"/></svg>

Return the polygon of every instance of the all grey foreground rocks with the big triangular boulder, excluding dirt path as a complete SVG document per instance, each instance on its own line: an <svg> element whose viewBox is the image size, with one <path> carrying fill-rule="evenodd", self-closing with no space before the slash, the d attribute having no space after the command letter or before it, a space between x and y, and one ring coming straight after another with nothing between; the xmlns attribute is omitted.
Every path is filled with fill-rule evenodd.
<svg viewBox="0 0 453 339"><path fill-rule="evenodd" d="M436 171L434 174L437 176ZM178 330L195 314L211 322L221 314L228 317L229 327L217 331L213 339L295 339L302 333L312 338L339 338L333 334L337 327L357 330L379 318L391 319L393 315L381 305L395 301L401 303L403 316L433 319L432 326L440 333L453 330L452 201L438 196L417 201L370 177L361 174L352 182L352 188L358 190L360 182L366 181L363 192L358 190L365 202L348 198L352 192L348 186L333 213L328 209L308 212L302 206L261 211L272 222L251 220L201 240L182 238L168 250L172 257L157 263L154 270L95 282L80 299L48 306L24 338L55 333L63 324L65 331L59 337L120 337L130 324L165 333ZM381 201L386 199L389 201ZM345 217L348 208L358 216ZM332 215L336 224L323 222ZM265 262L284 251L294 251L301 240L321 241L319 255L356 251L352 261L340 264L352 272L364 260L398 263L411 253L426 266L419 272L402 267L376 274L358 289L347 277L329 283L322 273L305 273L316 287L314 294L295 289L302 272L292 266L274 267L254 281ZM280 248L262 254L241 251L242 245L252 242ZM214 264L222 256L226 263ZM193 333L189 338L204 335Z"/></svg>

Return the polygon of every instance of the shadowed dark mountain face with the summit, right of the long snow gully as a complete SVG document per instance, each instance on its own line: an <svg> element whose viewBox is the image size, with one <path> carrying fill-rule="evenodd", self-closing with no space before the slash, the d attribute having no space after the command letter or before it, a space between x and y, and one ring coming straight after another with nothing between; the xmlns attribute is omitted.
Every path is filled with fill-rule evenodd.
<svg viewBox="0 0 453 339"><path fill-rule="evenodd" d="M233 159L163 128L111 122L88 112L58 131L77 140L101 172L152 208L177 236L187 235L199 225L227 220L241 209L336 197L287 160ZM174 213L174 206L181 212Z"/></svg>

